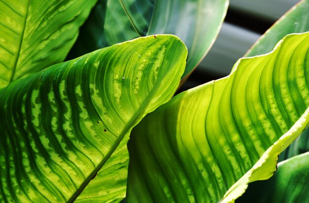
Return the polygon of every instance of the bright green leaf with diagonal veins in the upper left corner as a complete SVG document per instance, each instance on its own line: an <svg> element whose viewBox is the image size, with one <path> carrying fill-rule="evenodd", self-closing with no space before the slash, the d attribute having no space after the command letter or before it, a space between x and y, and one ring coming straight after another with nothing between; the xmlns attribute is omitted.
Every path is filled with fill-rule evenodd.
<svg viewBox="0 0 309 203"><path fill-rule="evenodd" d="M97 0L1 0L0 88L62 62Z"/></svg>

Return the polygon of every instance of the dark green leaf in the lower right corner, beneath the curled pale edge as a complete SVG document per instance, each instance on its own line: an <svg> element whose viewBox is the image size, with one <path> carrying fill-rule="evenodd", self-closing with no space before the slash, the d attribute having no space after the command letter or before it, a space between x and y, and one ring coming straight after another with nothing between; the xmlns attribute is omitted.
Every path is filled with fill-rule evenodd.
<svg viewBox="0 0 309 203"><path fill-rule="evenodd" d="M278 164L269 180L250 183L238 203L306 203L309 200L309 152Z"/></svg>

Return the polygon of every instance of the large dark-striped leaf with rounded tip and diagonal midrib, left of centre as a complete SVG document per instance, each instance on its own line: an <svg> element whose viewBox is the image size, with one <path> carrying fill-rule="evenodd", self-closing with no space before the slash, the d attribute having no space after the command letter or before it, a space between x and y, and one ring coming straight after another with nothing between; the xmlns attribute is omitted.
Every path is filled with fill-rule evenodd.
<svg viewBox="0 0 309 203"><path fill-rule="evenodd" d="M175 36L139 38L2 88L0 202L72 202L111 167L121 181L97 190L124 196L129 132L172 97L186 54Z"/></svg>

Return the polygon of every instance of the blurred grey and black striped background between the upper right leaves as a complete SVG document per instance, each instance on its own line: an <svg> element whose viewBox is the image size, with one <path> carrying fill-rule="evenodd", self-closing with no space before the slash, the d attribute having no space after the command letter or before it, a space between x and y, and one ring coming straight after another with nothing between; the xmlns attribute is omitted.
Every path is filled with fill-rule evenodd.
<svg viewBox="0 0 309 203"><path fill-rule="evenodd" d="M299 0L230 0L218 39L180 91L230 74L234 63Z"/></svg>

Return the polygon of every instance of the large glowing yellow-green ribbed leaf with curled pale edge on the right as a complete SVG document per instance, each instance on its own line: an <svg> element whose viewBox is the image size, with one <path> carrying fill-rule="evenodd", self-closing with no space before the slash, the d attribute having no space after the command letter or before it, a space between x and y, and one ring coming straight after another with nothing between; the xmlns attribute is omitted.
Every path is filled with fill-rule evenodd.
<svg viewBox="0 0 309 203"><path fill-rule="evenodd" d="M128 202L233 202L309 125L309 33L174 97L128 143Z"/></svg>

